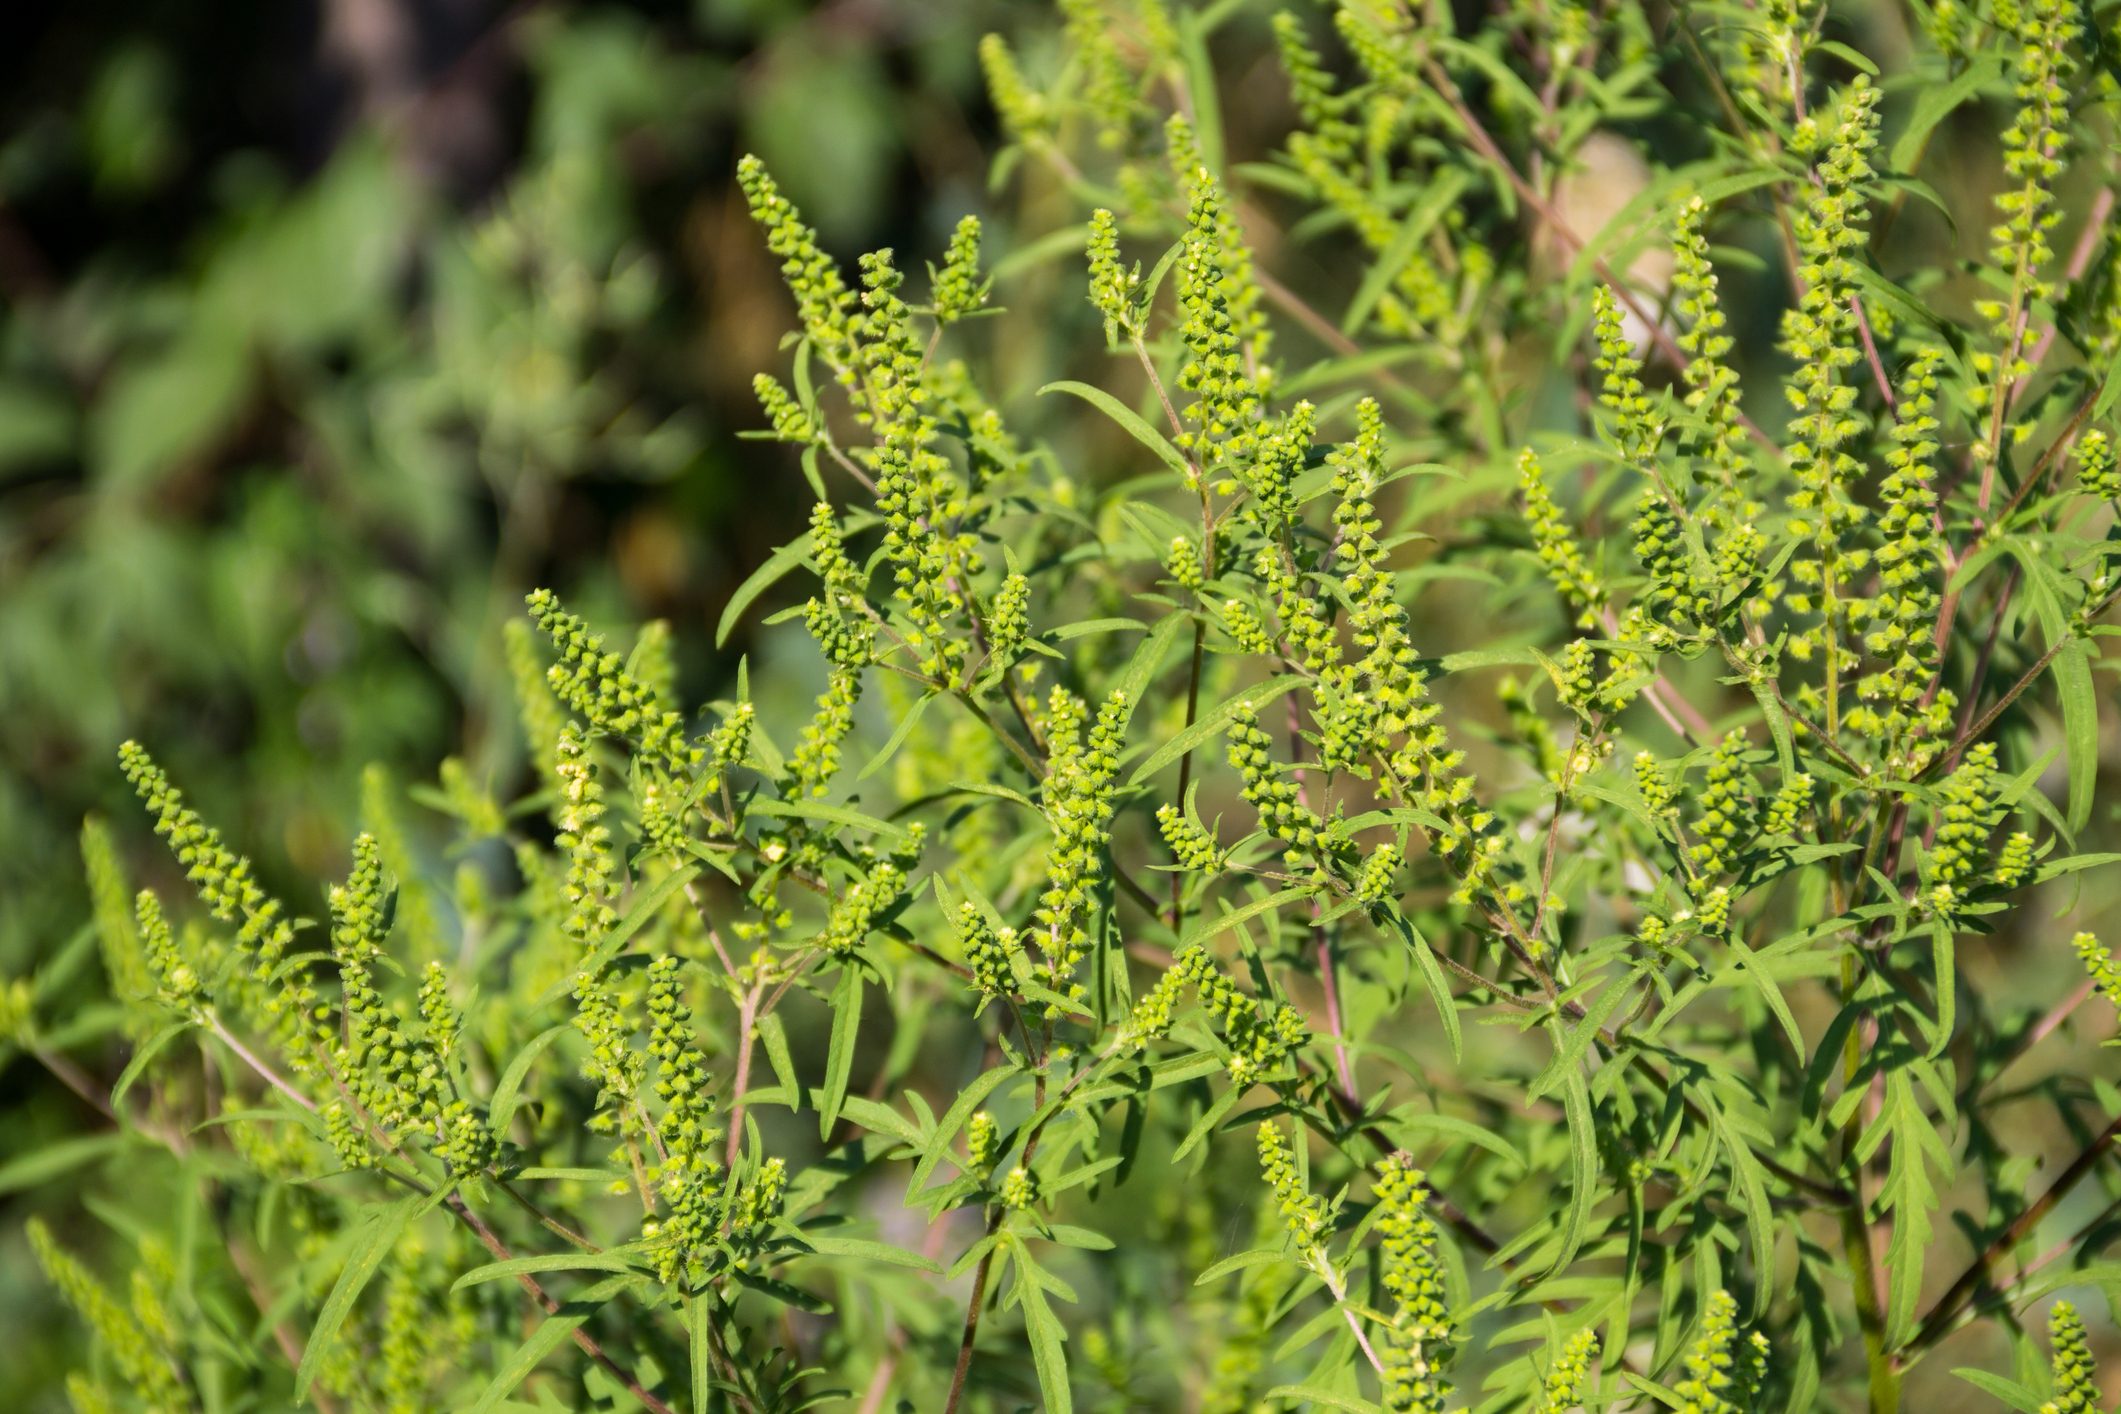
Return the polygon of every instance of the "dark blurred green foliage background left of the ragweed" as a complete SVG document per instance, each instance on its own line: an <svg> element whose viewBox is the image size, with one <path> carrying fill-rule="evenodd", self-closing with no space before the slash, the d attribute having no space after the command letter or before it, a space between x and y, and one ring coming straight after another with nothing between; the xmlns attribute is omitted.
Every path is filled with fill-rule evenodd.
<svg viewBox="0 0 2121 1414"><path fill-rule="evenodd" d="M789 326L736 157L836 250L940 250L1005 8L0 6L0 977L78 935L85 814L142 844L127 736L314 912L367 763L513 786L526 587L668 619L717 691L713 619L810 500L734 437ZM0 1049L0 1162L95 1124ZM0 1408L64 1408L19 1221L62 1196L6 1187Z"/></svg>

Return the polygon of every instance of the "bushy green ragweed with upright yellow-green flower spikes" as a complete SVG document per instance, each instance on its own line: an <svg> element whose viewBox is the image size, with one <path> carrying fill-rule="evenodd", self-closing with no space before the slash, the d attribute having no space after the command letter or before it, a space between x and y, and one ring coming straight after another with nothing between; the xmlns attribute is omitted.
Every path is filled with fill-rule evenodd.
<svg viewBox="0 0 2121 1414"><path fill-rule="evenodd" d="M808 678L683 704L662 630L532 591L534 789L422 795L454 880L380 791L314 901L121 748L199 907L89 831L108 1109L255 1314L142 1244L127 1319L40 1232L85 1408L2038 1408L1998 1372L2049 1359L2093 1408L2104 1327L2026 1333L2115 1287L2121 1191L2066 1049L2121 1001L2076 11L1873 76L1807 6L1343 0L1273 21L1296 129L1241 161L1234 8L982 47L1001 172L1075 204L1007 269L967 220L925 295L848 273L742 163L817 509L723 630L804 585ZM1714 157L1578 229L1661 93ZM1953 282L1881 229L1981 95ZM1277 257L1343 237L1334 318ZM988 316L1111 363L1020 396Z"/></svg>

